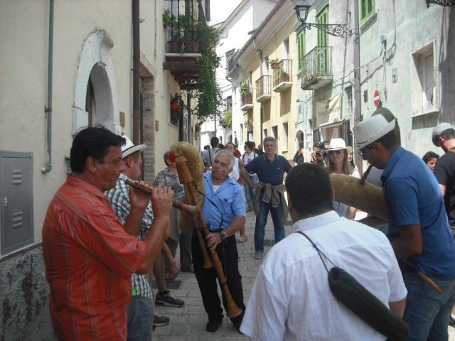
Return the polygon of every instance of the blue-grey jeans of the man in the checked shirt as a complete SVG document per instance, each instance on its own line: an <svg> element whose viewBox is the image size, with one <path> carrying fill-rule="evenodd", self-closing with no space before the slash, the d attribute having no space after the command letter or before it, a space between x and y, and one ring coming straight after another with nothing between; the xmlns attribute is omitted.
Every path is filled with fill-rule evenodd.
<svg viewBox="0 0 455 341"><path fill-rule="evenodd" d="M128 306L128 341L150 341L154 322L153 298L132 296Z"/></svg>

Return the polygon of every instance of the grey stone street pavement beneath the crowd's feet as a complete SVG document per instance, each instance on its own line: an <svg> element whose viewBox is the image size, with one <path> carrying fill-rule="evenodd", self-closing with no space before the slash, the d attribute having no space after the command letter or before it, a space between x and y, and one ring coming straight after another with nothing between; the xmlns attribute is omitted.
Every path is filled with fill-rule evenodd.
<svg viewBox="0 0 455 341"><path fill-rule="evenodd" d="M365 217L365 214L363 214L363 212L358 212L358 217L356 218L360 219L361 217ZM289 220L285 225L286 235L292 232L291 221L290 218L288 219ZM255 251L253 238L255 232L255 215L253 212L247 212L245 231L248 237L247 242L237 244L237 249L240 256L239 269L240 274L242 275L243 293L246 305L248 298L250 297L253 283L255 282L257 270L262 263L262 260L252 258L252 254ZM238 237L238 234L236 237ZM270 216L267 221L264 240L274 240L273 224ZM273 244L273 242L270 244ZM265 255L270 247L267 247L267 242L264 242L264 245ZM176 259L178 259L178 255L176 256ZM183 305L182 308L156 307L156 312L171 318L171 323L156 328L152 337L154 341L251 340L250 337L237 332L232 323L230 323L230 320L226 317L223 319L223 325L221 325L216 332L211 333L205 331L205 324L208 320L203 308L202 299L200 298L196 277L194 274L182 272L178 275L176 281L181 281L181 285L178 288L172 289L172 283L169 282L168 286L171 288L172 295L183 299L185 305ZM156 288L154 288L154 291L156 293ZM219 288L218 291L220 292ZM455 341L455 328L449 327L449 341Z"/></svg>

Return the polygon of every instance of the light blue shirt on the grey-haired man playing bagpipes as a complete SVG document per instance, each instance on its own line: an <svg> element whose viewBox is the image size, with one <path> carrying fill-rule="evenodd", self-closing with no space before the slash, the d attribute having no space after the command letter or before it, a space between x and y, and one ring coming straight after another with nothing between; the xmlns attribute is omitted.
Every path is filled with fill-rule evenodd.
<svg viewBox="0 0 455 341"><path fill-rule="evenodd" d="M221 215L223 214L222 229L228 227L234 217L246 217L245 200L243 191L237 181L230 177L220 185L218 190L213 190L212 174L204 173L205 196L215 202L219 210L207 199L204 200L202 213L205 222L210 224L210 231L217 231L220 228Z"/></svg>

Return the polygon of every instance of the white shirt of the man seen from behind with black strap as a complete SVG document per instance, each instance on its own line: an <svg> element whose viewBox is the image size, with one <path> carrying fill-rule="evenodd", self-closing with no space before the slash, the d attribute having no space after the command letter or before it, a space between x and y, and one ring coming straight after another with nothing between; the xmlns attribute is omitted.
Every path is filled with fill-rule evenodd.
<svg viewBox="0 0 455 341"><path fill-rule="evenodd" d="M334 211L299 220L294 227L385 305L406 297L397 260L382 232ZM327 276L308 239L290 234L259 268L240 330L264 341L385 340L336 300Z"/></svg>

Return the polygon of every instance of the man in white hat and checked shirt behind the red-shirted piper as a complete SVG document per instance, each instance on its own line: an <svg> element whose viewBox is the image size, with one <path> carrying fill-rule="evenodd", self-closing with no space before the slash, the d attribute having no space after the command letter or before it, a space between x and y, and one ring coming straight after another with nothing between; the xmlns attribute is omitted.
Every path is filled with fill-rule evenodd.
<svg viewBox="0 0 455 341"><path fill-rule="evenodd" d="M105 193L107 198L112 202L112 208L114 209L115 215L122 223L125 222L132 210L132 206L129 202L129 186L124 180L139 179L142 167L140 152L147 147L145 144L134 145L127 136L124 136L124 139L127 141L127 143L122 146L122 160L124 162L125 171L120 174L115 188L112 188L112 190ZM152 211L151 202L149 202L140 226L129 227L124 224L125 231L141 241L149 233L153 221L154 212ZM164 242L161 242L161 245L164 245ZM168 251L168 254L171 254L171 252ZM164 281L164 259L161 252L157 255L154 264L154 274L157 278L157 282L164 282L164 285L166 286L166 281ZM156 268L159 268L162 274L157 273ZM159 281L160 277L162 277L163 281ZM154 314L154 296L147 275L133 274L132 286L132 301L128 307L128 340L148 341L151 338L153 325L166 325L169 323L169 318ZM166 288L164 288L164 290L166 290ZM179 304L176 304L176 306L183 305L183 301L172 298L172 296L170 297L173 300L179 301Z"/></svg>

